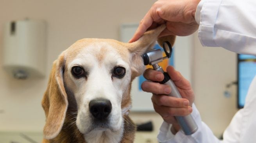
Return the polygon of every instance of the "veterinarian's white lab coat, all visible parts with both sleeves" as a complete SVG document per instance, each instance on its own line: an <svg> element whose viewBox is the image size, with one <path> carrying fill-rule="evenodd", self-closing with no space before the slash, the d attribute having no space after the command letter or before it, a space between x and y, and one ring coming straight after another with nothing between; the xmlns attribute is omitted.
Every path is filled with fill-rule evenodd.
<svg viewBox="0 0 256 143"><path fill-rule="evenodd" d="M256 0L201 0L195 19L203 46L256 55ZM160 143L256 143L256 77L252 81L245 106L224 131L223 141L202 122L193 105L192 117L199 129L190 136L182 131L173 135L171 125L163 122L158 134Z"/></svg>

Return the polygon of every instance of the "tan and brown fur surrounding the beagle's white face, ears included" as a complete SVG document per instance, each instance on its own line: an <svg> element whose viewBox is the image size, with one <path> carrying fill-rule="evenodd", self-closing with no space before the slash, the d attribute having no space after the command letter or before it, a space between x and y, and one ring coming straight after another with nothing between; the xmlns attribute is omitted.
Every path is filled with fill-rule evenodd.
<svg viewBox="0 0 256 143"><path fill-rule="evenodd" d="M141 54L152 48L158 35L164 29L165 25L162 25L156 30L147 31L143 37L133 43L123 43L112 39L82 39L78 40L64 51L59 58L54 61L47 90L41 102L46 116L46 123L43 130L43 143L86 143L84 135L75 124L77 113L75 113L76 111L74 111L72 107L73 99L68 93L69 89L65 89L67 85L72 86L73 84L73 81L68 78L68 72L70 71L67 71L65 66L68 62L75 59L76 56L89 45L95 44L95 46L97 46L98 44L104 45L104 43L107 43L111 45L111 47L115 47L118 54L124 59L127 59L127 63L131 62L132 81L135 77L141 75L144 70ZM175 36L158 39L160 45L166 40L173 45ZM95 54L94 56L98 59L99 63L102 63L104 53L111 51L104 46L100 50L102 54ZM128 59L131 59L131 61L128 61ZM130 91L131 83L129 87L127 87L127 91L123 94L121 108L131 106ZM123 136L120 143L132 143L136 127L128 115L124 114L123 118L124 133L120 135Z"/></svg>

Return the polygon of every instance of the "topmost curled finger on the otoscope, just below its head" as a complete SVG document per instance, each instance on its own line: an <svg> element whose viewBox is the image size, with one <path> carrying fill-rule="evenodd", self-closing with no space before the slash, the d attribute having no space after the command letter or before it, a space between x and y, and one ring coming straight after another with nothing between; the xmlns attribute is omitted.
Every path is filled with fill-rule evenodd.
<svg viewBox="0 0 256 143"><path fill-rule="evenodd" d="M159 81L159 82L161 82L164 78L163 73L153 70L152 68L148 68L147 70L145 70L145 72L143 73L143 76L147 80Z"/></svg>

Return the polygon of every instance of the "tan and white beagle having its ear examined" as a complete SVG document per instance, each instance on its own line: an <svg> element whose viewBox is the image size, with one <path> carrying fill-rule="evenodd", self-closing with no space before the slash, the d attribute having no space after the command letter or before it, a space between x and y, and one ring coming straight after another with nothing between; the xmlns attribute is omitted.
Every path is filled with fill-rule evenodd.
<svg viewBox="0 0 256 143"><path fill-rule="evenodd" d="M175 36L166 28L147 31L138 41L85 38L54 61L42 99L43 143L132 143L131 82L144 71L141 54Z"/></svg>

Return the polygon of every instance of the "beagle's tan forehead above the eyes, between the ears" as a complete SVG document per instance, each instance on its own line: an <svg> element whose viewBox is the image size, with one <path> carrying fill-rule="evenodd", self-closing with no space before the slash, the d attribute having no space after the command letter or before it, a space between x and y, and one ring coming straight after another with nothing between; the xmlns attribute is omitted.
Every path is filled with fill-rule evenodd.
<svg viewBox="0 0 256 143"><path fill-rule="evenodd" d="M118 54L118 55L117 55ZM73 61L77 57L93 56L102 62L108 56L120 56L122 60L129 60L129 51L125 44L113 39L85 38L78 40L66 50L66 61Z"/></svg>

